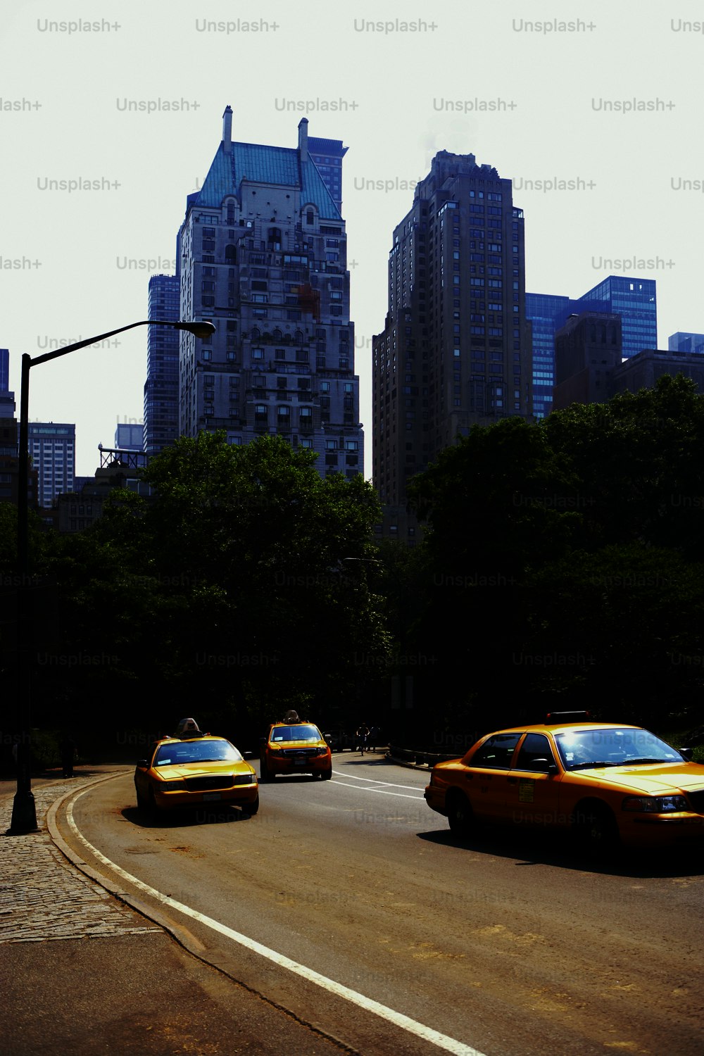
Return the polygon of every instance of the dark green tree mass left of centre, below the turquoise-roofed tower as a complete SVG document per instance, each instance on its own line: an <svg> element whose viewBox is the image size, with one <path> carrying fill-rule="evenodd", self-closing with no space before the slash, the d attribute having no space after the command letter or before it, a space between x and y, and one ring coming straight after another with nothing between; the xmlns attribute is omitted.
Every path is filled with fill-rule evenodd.
<svg viewBox="0 0 704 1056"><path fill-rule="evenodd" d="M153 730L193 713L242 739L289 706L321 722L349 708L370 674L357 658L386 649L379 599L345 560L373 553L378 503L313 461L278 437L201 433L151 463L155 498L115 490L91 531L54 536L44 710L97 704L113 728Z"/></svg>

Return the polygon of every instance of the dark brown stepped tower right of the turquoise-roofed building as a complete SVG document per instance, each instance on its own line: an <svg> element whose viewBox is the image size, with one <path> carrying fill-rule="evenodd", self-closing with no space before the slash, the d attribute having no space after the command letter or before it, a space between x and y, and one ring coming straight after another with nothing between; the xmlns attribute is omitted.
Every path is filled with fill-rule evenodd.
<svg viewBox="0 0 704 1056"><path fill-rule="evenodd" d="M441 151L394 231L388 313L373 340L374 482L406 479L467 434L530 414L524 213L512 184L474 154Z"/></svg>

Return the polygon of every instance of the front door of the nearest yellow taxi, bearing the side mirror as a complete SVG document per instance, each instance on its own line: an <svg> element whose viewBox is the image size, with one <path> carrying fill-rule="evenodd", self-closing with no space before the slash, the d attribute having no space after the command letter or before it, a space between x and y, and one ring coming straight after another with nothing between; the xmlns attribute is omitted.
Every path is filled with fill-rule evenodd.
<svg viewBox="0 0 704 1056"><path fill-rule="evenodd" d="M541 733L527 733L507 776L507 822L558 825L559 778L548 738Z"/></svg>

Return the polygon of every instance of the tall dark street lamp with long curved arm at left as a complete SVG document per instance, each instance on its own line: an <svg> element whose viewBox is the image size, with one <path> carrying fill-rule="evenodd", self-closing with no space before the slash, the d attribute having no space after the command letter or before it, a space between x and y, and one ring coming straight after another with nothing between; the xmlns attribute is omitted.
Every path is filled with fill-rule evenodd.
<svg viewBox="0 0 704 1056"><path fill-rule="evenodd" d="M21 835L37 831L37 813L32 794L32 778L30 774L30 705L31 705L31 674L30 637L31 611L28 590L28 504L27 489L30 485L30 370L50 359L58 359L77 348L104 341L106 338L134 329L135 326L170 326L172 329L187 331L194 337L209 337L215 333L215 327L209 322L173 322L163 319L144 319L129 326L120 326L108 334L98 334L84 341L77 341L64 348L45 352L43 356L34 358L26 353L22 356L22 375L20 381L20 436L17 494L17 564L19 583L17 587L17 711L20 717L19 741L17 743L17 791L13 800L13 816L7 830L8 835Z"/></svg>

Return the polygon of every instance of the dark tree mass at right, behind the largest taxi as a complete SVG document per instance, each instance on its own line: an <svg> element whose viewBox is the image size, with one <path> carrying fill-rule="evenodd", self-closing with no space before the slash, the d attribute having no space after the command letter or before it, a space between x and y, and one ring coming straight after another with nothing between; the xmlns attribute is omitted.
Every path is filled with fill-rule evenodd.
<svg viewBox="0 0 704 1056"><path fill-rule="evenodd" d="M701 713L704 397L683 377L475 428L418 476L418 639L464 722ZM435 644L432 645L431 643ZM607 704L608 702L608 704Z"/></svg>

